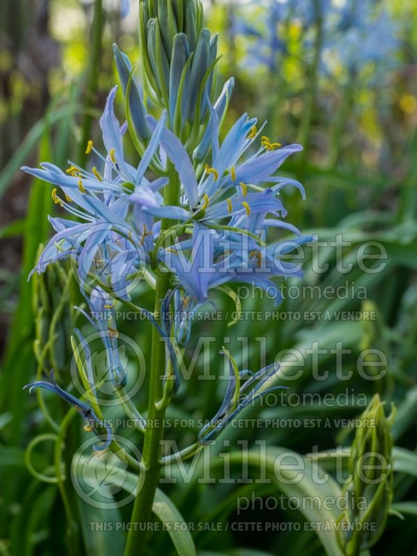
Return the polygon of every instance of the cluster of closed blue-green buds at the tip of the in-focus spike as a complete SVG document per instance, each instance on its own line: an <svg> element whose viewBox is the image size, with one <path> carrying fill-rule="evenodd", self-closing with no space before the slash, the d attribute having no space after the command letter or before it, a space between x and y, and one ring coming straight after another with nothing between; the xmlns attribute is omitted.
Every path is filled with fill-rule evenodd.
<svg viewBox="0 0 417 556"><path fill-rule="evenodd" d="M217 35L203 28L199 0L142 0L139 15L140 58L145 90L167 108L170 127L206 119L212 99Z"/></svg>

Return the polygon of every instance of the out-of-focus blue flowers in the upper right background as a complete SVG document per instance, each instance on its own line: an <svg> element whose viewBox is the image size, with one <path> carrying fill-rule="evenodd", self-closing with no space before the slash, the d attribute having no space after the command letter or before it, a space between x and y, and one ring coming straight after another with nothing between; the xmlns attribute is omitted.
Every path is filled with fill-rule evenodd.
<svg viewBox="0 0 417 556"><path fill-rule="evenodd" d="M319 21L323 72L333 73L340 65L349 74L370 62L392 65L398 48L395 22L375 0L267 0L261 6L250 1L234 13L231 30L252 42L245 65L278 71L282 56L288 54L291 26L299 29L308 52L311 31Z"/></svg>

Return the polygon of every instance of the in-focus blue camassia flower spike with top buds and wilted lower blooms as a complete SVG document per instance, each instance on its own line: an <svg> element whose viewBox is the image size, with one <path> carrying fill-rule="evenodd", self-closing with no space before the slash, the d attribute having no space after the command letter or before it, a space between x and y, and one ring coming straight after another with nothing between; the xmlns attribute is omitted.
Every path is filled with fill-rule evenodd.
<svg viewBox="0 0 417 556"><path fill-rule="evenodd" d="M299 277L301 269L288 263L286 255L312 238L302 236L293 224L286 222L287 212L280 195L284 186L291 185L304 197L304 188L301 183L277 174L286 158L300 152L302 147L281 147L263 136L263 126L258 127L256 119L247 114L239 117L227 133L222 133L224 138L220 140L234 80L227 81L220 97L213 99L215 42L209 39L207 30L199 29L199 2L188 1L189 17L172 8L170 17L178 27L183 22L182 31L172 37L162 33L161 38L157 14L162 5L150 2L149 7L143 1L140 20L142 24L147 22L144 33L150 65L145 63L146 87L152 86L154 96L165 107L159 119L147 113L131 63L115 47L127 122L121 125L115 116L117 88L113 88L100 120L105 151L96 149L92 141L86 147L87 154L94 158L91 170L73 161L69 161L65 171L51 163L23 170L53 184L54 201L75 217L50 218L56 234L45 247L35 271L43 272L54 261L71 259L91 314L96 315L89 318L107 338L104 341L107 361L117 386L123 386L126 371L117 354L115 302L130 300L138 275L146 274L149 283L154 284L158 273L170 273L171 289L163 300L161 316L144 313L165 341L167 367L172 368L176 378L176 391L178 346L186 343L191 313L210 300L210 291L213 288L228 291L224 289L226 284L246 282L275 288L279 302L272 278ZM156 15L152 10L156 10ZM189 42L194 44L195 52L187 57L185 54L192 48ZM124 154L127 129L140 154L135 165ZM172 186L170 166L181 183L179 204L175 206L163 200L165 188ZM174 222L168 229L161 227L166 219ZM270 237L276 237L277 229L286 230L291 238L271 242ZM171 306L174 316L170 315ZM101 311L108 311L112 318L97 318ZM87 354L88 346L78 334ZM231 368L229 386L214 424L200 434L202 443L215 438L276 373L274 367L254 374L239 373L236 363L228 354L227 357ZM88 364L86 355L85 360ZM250 378L243 383L248 373ZM92 373L86 375L94 392ZM31 389L36 387L56 391L85 418L99 421L85 404L64 394L54 382L31 385ZM245 402L240 401L243 393ZM107 445L108 441L103 447Z"/></svg>

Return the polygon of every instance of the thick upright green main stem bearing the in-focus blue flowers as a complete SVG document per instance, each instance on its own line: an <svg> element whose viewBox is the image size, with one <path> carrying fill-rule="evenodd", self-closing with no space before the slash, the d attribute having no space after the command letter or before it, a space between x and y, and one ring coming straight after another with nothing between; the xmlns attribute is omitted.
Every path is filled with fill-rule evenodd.
<svg viewBox="0 0 417 556"><path fill-rule="evenodd" d="M179 202L179 178L174 167L170 165L170 183L165 187L165 204L176 206ZM161 222L161 234L176 224L175 221L164 218ZM161 313L161 302L170 288L170 275L161 274L156 279L155 315ZM143 462L146 471L141 481L142 488L136 496L131 515L131 523L149 523L152 518L152 506L156 487L158 486L159 471L161 469L161 443L163 441L163 420L165 405L158 409L157 404L163 398L162 376L165 370L165 345L161 341L158 331L152 327L151 375L149 379L149 401L147 420L152 423L145 431L143 445ZM124 556L140 556L144 553L147 541L147 531L133 527L128 534Z"/></svg>

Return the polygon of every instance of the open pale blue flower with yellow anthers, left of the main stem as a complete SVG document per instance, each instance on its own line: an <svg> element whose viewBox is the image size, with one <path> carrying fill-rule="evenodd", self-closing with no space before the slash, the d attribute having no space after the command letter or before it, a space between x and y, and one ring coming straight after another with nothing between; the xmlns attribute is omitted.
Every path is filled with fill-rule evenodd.
<svg viewBox="0 0 417 556"><path fill-rule="evenodd" d="M152 159L158 159L159 141L167 115L163 113L161 116L138 167L131 166L124 160L123 152L122 141L126 125L120 127L113 110L116 89L113 88L108 95L100 120L107 154L101 155L91 141L88 142L86 151L88 154L94 153L101 161L101 173L95 166L88 172L74 163L70 163L66 172L50 163L42 163L40 169L22 168L25 172L58 186L63 195L58 195L54 188L54 201L78 219L49 219L56 235L40 256L36 268L38 272L43 272L49 263L57 259L76 254L81 279L84 280L85 273L93 263L97 263L97 259L103 260L97 253L99 246L106 242L112 245L113 250L117 250L115 256L120 255L119 259L124 265L131 256L130 243L143 247L145 253L152 247L149 236L154 233L153 213L162 206L163 198L159 192L166 185L167 179L159 177L149 181L145 172ZM119 237L118 243L115 238L111 238L111 234L114 236L115 232ZM97 249L94 248L95 245ZM138 265L138 261L135 263ZM113 270L117 272L117 268Z"/></svg>

